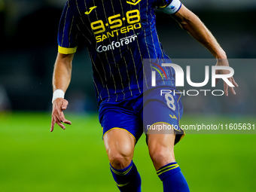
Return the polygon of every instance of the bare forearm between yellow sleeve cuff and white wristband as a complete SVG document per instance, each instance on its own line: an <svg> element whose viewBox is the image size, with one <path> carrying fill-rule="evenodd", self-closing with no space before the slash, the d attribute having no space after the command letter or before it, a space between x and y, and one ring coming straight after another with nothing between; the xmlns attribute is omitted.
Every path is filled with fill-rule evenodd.
<svg viewBox="0 0 256 192"><path fill-rule="evenodd" d="M69 87L72 76L72 59L74 54L64 55L58 53L53 71L53 91L66 90Z"/></svg>

